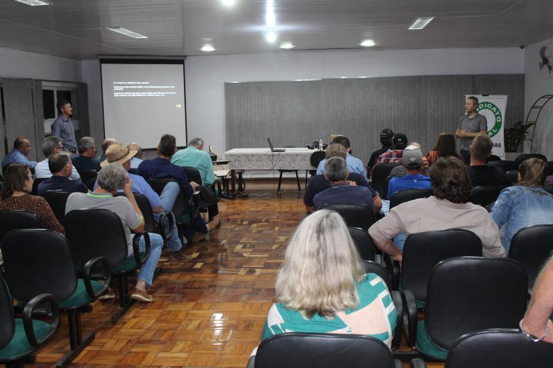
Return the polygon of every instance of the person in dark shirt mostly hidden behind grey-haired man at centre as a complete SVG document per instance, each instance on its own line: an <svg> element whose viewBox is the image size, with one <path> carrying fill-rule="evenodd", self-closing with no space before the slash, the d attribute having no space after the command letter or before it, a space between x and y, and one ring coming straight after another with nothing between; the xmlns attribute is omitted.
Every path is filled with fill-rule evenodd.
<svg viewBox="0 0 553 368"><path fill-rule="evenodd" d="M341 157L343 159L346 159L346 148L338 143L332 143L326 148L326 159L330 159L330 157ZM371 191L371 197L373 197L373 206L375 209L375 212L380 211L382 208L382 200L380 200L380 197L378 193L368 184L366 178L364 175L359 175L357 173L349 173L349 176L346 180L348 184L350 185L356 185L356 186L365 186ZM313 197L315 195L321 193L322 191L330 188L331 184L326 179L324 175L314 175L307 184L306 188L306 194L303 195L303 204L306 205L306 211L312 212L315 211L315 204L313 204Z"/></svg>

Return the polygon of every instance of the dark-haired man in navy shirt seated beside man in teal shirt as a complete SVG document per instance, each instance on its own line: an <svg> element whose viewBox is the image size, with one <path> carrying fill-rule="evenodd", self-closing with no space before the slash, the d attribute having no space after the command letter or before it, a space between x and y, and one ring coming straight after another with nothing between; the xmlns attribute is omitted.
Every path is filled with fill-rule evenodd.
<svg viewBox="0 0 553 368"><path fill-rule="evenodd" d="M171 177L180 184L180 190L183 191L186 197L194 195L194 189L199 186L196 182L188 182L188 177L184 169L180 166L171 164L171 157L176 153L176 139L174 135L166 134L160 139L158 144L158 157L155 159L144 159L138 165L138 173L144 179ZM205 224L202 217L198 213L191 220L191 228L184 229L185 237L190 242L198 242L205 238L209 231L213 231L215 226L212 222ZM196 234L194 234L197 232Z"/></svg>

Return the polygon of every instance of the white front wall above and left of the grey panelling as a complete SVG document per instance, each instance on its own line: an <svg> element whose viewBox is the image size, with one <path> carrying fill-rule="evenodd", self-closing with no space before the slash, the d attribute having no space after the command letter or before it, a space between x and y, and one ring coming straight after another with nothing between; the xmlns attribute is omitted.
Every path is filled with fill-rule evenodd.
<svg viewBox="0 0 553 368"><path fill-rule="evenodd" d="M463 48L188 57L185 62L188 136L203 137L207 144L217 146L220 153L227 149L225 82L523 73L524 55L520 48Z"/></svg>

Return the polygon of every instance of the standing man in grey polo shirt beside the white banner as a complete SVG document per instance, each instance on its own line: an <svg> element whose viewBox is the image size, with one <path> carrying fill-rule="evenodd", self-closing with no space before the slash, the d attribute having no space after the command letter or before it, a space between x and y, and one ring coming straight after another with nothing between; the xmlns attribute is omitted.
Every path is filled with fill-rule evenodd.
<svg viewBox="0 0 553 368"><path fill-rule="evenodd" d="M478 108L478 99L474 96L468 97L465 101L465 115L459 119L455 132L455 135L460 138L460 154L467 165L471 162L469 147L472 139L480 133L488 131L486 117L480 115L476 108Z"/></svg>

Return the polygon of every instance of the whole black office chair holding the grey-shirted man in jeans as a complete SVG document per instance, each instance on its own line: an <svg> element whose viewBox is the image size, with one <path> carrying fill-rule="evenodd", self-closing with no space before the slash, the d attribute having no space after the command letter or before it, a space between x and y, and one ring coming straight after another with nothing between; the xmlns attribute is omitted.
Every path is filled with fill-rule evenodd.
<svg viewBox="0 0 553 368"><path fill-rule="evenodd" d="M150 254L150 238L146 231L133 238L133 257L127 258L126 236L119 216L106 209L75 210L65 217L66 236L71 244L73 262L84 267L92 258L104 257L111 273L118 278L120 309L113 313L116 323L135 300L129 296L129 275L133 275ZM94 224L94 226L91 226ZM99 231L101 229L101 231ZM139 250L140 237L144 237L146 249Z"/></svg>

